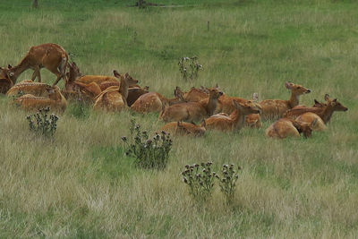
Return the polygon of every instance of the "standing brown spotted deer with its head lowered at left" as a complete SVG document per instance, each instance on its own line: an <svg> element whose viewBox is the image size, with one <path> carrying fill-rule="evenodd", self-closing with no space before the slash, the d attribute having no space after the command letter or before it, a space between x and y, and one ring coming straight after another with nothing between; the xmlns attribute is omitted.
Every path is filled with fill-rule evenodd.
<svg viewBox="0 0 358 239"><path fill-rule="evenodd" d="M21 73L28 69L32 69L34 70L34 73L32 74L31 80L34 81L38 78L38 81L41 82L40 70L45 67L48 71L57 76L57 79L53 84L53 86L55 86L62 78L66 80L65 71L67 63L68 55L64 48L54 43L47 43L31 47L30 51L23 57L20 64L16 66L11 66L9 64L3 71L9 76L14 84Z"/></svg>

